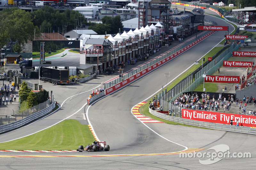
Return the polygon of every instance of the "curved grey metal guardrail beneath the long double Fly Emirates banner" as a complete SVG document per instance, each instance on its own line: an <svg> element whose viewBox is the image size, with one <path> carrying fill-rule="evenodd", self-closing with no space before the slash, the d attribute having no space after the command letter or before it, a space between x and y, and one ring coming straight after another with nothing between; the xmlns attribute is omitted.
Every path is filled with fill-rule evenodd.
<svg viewBox="0 0 256 170"><path fill-rule="evenodd" d="M202 128L209 128L209 129L216 129L216 130L224 130L228 132L237 132L237 133L245 133L245 134L251 134L251 135L256 135L256 128L250 128L250 127L244 127L244 126L230 126L227 124L220 124L220 123L211 123L211 122L201 122L201 121L195 121L195 120L189 120L189 119L183 119L180 117L174 117L174 116L169 116L169 115L164 115L162 113L156 112L150 108L149 113L152 115L172 121L172 122L178 122L182 124L187 124L191 126L198 126Z"/></svg>

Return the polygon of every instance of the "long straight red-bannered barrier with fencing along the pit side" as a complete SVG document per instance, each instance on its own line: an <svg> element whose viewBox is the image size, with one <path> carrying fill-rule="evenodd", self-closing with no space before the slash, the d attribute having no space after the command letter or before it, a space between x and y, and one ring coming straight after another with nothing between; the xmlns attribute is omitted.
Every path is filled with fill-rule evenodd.
<svg viewBox="0 0 256 170"><path fill-rule="evenodd" d="M133 70L133 71L129 72L128 74L125 74L124 76L126 76L126 78L124 78L123 81L122 81L122 78L116 78L115 80L113 80L114 82L112 81L113 86L111 86L111 87L108 86L109 88L106 88L106 86L111 85L111 82L105 84L105 89L106 89L105 93L106 93L106 95L109 94L109 93L115 92L116 90L124 87L125 85L128 85L129 83L135 81L136 79L148 74L152 70L155 70L156 68L162 66L163 64L167 63L168 61L170 61L173 58L177 57L178 55L182 54L183 52L185 52L189 48L193 47L194 45L196 45L200 41L204 40L206 37L208 37L209 35L211 35L214 32L215 31L208 32L208 33L206 33L206 35L202 35L202 37L198 38L198 40L196 40L194 42L190 41L190 44L187 44L185 47L181 48L180 50L178 50L176 52L175 52L175 50L166 52L161 57L158 57L155 60L153 60L153 61L151 61L147 64L142 65L141 67L137 68L136 70ZM119 80L119 81L116 82L116 80Z"/></svg>

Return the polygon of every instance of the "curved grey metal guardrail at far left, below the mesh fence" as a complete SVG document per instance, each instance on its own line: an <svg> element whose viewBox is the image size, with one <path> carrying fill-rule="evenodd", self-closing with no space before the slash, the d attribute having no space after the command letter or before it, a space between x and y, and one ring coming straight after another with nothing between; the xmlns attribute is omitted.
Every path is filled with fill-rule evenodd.
<svg viewBox="0 0 256 170"><path fill-rule="evenodd" d="M0 126L0 133L3 133L3 132L7 132L7 131L10 131L10 130L13 130L13 129L16 129L16 128L19 128L20 126L23 126L39 117L42 117L44 115L47 115L49 112L52 111L52 109L55 107L55 102L52 102L52 104L43 109L43 110L40 110L39 112L36 112L32 115L29 115L28 117L25 117L23 119L20 119L16 122L12 122L12 123L8 123L8 124L5 124L5 125L1 125Z"/></svg>

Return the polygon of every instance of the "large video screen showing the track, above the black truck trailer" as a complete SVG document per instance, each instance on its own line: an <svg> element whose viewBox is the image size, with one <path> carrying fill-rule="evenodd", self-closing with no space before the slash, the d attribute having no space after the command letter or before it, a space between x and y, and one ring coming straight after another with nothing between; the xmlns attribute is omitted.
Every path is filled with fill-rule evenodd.
<svg viewBox="0 0 256 170"><path fill-rule="evenodd" d="M80 41L33 41L33 67L79 67Z"/></svg>

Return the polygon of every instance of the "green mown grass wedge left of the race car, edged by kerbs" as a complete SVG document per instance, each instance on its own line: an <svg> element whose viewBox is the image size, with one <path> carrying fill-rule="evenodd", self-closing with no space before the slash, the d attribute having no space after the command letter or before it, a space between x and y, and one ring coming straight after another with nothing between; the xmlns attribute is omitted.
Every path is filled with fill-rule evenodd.
<svg viewBox="0 0 256 170"><path fill-rule="evenodd" d="M76 150L94 140L88 125L68 119L28 137L0 143L0 150Z"/></svg>

